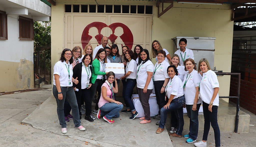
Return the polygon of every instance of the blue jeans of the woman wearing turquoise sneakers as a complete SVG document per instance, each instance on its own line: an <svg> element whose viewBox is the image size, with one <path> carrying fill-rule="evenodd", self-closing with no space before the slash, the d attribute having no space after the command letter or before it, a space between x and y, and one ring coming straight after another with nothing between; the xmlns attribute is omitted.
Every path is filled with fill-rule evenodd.
<svg viewBox="0 0 256 147"><path fill-rule="evenodd" d="M186 109L189 117L189 138L196 140L198 134L198 111L201 104L196 105L196 111L192 110L193 105L187 105Z"/></svg>

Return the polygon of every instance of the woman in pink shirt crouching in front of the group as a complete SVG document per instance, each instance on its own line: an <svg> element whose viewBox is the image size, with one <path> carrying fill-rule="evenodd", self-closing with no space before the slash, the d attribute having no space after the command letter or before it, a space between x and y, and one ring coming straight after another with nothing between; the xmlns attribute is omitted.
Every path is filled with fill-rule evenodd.
<svg viewBox="0 0 256 147"><path fill-rule="evenodd" d="M115 81L115 87L113 82ZM119 111L123 109L123 104L115 100L114 93L118 93L118 86L115 79L114 72L110 71L107 74L107 80L101 86L101 95L99 100L99 110L97 112L97 118L103 119L108 123L114 123L112 118L118 118L120 116Z"/></svg>

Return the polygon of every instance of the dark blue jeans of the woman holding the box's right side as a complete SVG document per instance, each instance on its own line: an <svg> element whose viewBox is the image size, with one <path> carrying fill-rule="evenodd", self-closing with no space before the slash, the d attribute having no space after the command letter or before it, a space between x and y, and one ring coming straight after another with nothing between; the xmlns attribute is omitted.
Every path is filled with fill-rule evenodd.
<svg viewBox="0 0 256 147"><path fill-rule="evenodd" d="M131 111L135 111L135 107L132 102L132 92L133 88L136 85L136 79L127 79L126 82L123 82L123 93L124 93L124 102L126 104L127 109L131 109Z"/></svg>

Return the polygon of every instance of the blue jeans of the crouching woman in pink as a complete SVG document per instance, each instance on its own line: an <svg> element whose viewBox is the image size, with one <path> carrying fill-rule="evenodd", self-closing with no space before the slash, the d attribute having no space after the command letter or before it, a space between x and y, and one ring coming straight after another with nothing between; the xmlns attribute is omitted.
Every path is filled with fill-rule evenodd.
<svg viewBox="0 0 256 147"><path fill-rule="evenodd" d="M100 107L100 115L105 116L106 119L112 119L119 117L119 111L123 109L123 104L116 104L116 103L105 103L103 106Z"/></svg>

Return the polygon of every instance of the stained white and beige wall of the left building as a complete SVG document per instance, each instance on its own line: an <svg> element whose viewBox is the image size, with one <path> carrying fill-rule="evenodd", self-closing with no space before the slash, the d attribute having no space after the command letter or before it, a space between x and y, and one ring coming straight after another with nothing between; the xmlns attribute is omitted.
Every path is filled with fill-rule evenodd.
<svg viewBox="0 0 256 147"><path fill-rule="evenodd" d="M34 41L19 40L18 16L7 17L8 40L0 40L0 92L34 88Z"/></svg>

